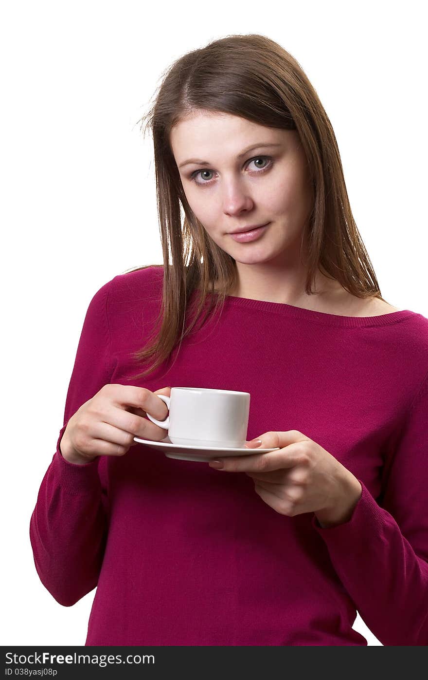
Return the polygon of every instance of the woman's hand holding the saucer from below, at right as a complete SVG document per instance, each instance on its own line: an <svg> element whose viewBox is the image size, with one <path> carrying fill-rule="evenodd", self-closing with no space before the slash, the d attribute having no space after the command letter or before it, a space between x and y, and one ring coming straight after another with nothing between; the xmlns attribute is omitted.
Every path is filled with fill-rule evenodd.
<svg viewBox="0 0 428 680"><path fill-rule="evenodd" d="M281 515L314 512L322 528L351 519L361 498L361 484L332 454L298 430L265 432L258 439L262 448L281 448L219 458L221 468L214 461L209 465L221 472L245 472L260 498ZM252 448L251 442L246 446Z"/></svg>

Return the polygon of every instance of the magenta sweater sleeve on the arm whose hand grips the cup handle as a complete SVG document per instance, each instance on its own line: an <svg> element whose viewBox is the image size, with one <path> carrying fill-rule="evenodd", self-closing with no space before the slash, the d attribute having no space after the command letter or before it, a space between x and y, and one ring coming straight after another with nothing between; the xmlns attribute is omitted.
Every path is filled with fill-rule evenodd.
<svg viewBox="0 0 428 680"><path fill-rule="evenodd" d="M99 461L75 465L63 458L60 441L79 407L110 381L105 284L86 312L65 403L64 425L30 520L30 541L41 583L65 607L98 582L107 536L108 499Z"/></svg>

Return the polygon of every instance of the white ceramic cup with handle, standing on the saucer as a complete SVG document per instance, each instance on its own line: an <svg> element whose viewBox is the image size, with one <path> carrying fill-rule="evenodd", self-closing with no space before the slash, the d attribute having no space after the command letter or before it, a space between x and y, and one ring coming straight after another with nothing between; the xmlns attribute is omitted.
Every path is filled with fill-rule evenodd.
<svg viewBox="0 0 428 680"><path fill-rule="evenodd" d="M156 394L168 407L165 420L147 418L168 430L173 444L239 448L247 441L249 392L173 387Z"/></svg>

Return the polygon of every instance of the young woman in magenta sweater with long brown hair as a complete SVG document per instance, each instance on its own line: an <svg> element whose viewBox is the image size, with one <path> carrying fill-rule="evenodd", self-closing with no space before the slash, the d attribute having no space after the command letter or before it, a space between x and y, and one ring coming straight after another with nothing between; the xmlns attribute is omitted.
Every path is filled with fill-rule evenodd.
<svg viewBox="0 0 428 680"><path fill-rule="evenodd" d="M97 586L86 645L367 645L357 611L427 645L428 319L380 295L317 93L232 35L168 69L147 124L164 265L88 307L31 517L43 585ZM135 443L171 386L249 392L248 440L278 449Z"/></svg>

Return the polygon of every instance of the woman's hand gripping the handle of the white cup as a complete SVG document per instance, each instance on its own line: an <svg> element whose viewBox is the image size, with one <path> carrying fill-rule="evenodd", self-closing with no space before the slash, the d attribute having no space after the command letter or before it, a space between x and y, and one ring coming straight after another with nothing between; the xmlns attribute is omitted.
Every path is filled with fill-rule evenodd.
<svg viewBox="0 0 428 680"><path fill-rule="evenodd" d="M84 465L98 456L123 456L134 437L160 441L167 430L155 425L165 420L166 404L156 394L170 396L171 387L151 392L132 385L104 385L71 416L61 437L60 452L68 462Z"/></svg>

